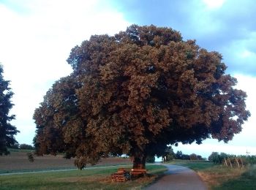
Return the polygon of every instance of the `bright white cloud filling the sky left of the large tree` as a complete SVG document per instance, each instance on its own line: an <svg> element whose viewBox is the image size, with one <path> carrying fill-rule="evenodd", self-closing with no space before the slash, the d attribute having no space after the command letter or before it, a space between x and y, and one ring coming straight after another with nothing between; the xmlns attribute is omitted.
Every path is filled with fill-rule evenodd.
<svg viewBox="0 0 256 190"><path fill-rule="evenodd" d="M0 3L0 61L11 80L16 139L31 143L34 109L55 80L69 75L66 59L93 34L116 34L129 23L104 1L11 1ZM22 10L22 11L21 11Z"/></svg>

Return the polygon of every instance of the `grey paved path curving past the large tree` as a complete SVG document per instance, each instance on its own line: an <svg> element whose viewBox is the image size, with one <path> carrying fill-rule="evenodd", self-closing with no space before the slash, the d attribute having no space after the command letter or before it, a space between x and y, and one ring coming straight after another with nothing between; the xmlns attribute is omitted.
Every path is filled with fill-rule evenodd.
<svg viewBox="0 0 256 190"><path fill-rule="evenodd" d="M206 190L206 184L200 179L196 172L187 167L165 164L168 171L156 183L148 186L147 190Z"/></svg>

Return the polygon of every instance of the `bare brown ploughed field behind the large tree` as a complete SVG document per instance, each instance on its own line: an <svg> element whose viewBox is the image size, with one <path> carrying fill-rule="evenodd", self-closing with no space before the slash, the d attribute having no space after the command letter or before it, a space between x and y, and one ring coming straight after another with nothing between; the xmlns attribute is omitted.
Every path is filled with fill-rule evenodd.
<svg viewBox="0 0 256 190"><path fill-rule="evenodd" d="M102 159L98 166L132 164L130 159L108 158ZM64 159L63 156L34 156L34 162L30 162L26 153L12 152L8 156L0 156L0 172L18 172L26 170L50 170L76 168L74 159Z"/></svg>

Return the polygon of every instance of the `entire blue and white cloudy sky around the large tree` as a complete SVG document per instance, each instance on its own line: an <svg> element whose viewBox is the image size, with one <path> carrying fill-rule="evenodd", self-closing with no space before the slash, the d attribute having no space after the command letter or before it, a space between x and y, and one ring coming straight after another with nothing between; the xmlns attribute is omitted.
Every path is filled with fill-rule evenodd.
<svg viewBox="0 0 256 190"><path fill-rule="evenodd" d="M256 4L252 0L0 0L0 62L11 80L16 139L31 144L34 109L55 80L71 72L66 59L92 34L116 34L132 23L167 26L200 47L222 53L227 73L246 91L252 116L228 144L206 140L175 150L256 154Z"/></svg>

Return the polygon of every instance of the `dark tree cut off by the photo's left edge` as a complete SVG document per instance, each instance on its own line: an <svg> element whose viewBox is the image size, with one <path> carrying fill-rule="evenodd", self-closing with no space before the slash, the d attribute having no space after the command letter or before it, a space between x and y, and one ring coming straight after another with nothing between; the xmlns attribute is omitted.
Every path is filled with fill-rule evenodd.
<svg viewBox="0 0 256 190"><path fill-rule="evenodd" d="M13 106L11 102L13 93L9 88L10 81L4 80L3 72L3 66L0 64L0 156L10 153L7 148L15 145L17 141L14 135L19 132L10 123L15 118L15 115L9 115Z"/></svg>

